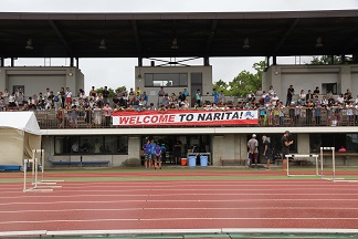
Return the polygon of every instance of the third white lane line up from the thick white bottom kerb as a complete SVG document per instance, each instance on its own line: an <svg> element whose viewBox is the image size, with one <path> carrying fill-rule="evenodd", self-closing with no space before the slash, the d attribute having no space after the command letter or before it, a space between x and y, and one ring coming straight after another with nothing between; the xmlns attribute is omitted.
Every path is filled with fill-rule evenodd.
<svg viewBox="0 0 358 239"><path fill-rule="evenodd" d="M0 206L10 206L10 205L56 205L56 204L117 204L117 202L250 202L250 201L264 201L267 202L267 198L262 199L221 199L221 200L210 200L210 199L197 199L197 200L152 200L152 199L143 199L143 200L81 200L81 201L73 201L73 200L64 200L64 201L13 201L13 202L3 202ZM324 198L324 199L307 199L307 198L299 198L299 199L292 199L292 198L281 198L281 199L270 199L270 201L355 201L358 202L356 198Z"/></svg>

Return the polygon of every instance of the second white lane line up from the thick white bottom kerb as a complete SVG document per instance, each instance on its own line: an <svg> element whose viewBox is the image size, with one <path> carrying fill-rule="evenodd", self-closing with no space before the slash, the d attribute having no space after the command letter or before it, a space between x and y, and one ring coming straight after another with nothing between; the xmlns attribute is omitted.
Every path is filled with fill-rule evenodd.
<svg viewBox="0 0 358 239"><path fill-rule="evenodd" d="M340 207L289 207L289 208L282 208L282 207L245 207L245 208L74 208L74 209L36 209L36 210L15 210L15 211L0 211L1 214L30 214L30 212L71 212L71 211L138 211L138 210L358 210L357 207L355 208L340 208Z"/></svg>

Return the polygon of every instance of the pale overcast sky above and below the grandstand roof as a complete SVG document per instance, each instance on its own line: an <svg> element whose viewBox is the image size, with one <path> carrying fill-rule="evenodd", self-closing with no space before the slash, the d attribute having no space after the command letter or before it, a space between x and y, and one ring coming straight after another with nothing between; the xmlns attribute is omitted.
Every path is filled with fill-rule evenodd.
<svg viewBox="0 0 358 239"><path fill-rule="evenodd" d="M2 12L228 12L358 9L358 0L1 0ZM264 58L211 58L213 81L231 81L241 71L253 71ZM307 59L278 59L277 63L305 63ZM10 64L6 61L6 64ZM43 65L43 59L19 59L17 65ZM69 65L67 59L53 59L52 65ZM116 89L134 86L137 59L80 59L85 90L92 85ZM148 61L144 61L148 65ZM192 62L202 64L202 60ZM98 83L101 82L101 83Z"/></svg>

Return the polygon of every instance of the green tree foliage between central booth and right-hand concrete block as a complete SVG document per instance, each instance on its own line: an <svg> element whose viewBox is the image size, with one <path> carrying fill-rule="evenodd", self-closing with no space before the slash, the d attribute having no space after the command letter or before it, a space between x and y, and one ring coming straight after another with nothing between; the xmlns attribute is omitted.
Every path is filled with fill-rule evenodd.
<svg viewBox="0 0 358 239"><path fill-rule="evenodd" d="M256 73L242 71L231 82L227 83L222 80L214 82L213 89L218 92L223 91L224 95L233 95L238 97L246 97L250 91L256 92L262 85L262 73L265 70L265 62L254 63L252 66Z"/></svg>

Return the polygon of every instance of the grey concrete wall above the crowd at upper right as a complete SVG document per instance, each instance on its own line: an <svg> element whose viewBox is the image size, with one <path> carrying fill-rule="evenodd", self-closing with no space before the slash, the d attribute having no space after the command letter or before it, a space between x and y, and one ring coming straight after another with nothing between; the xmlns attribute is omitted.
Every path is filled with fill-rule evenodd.
<svg viewBox="0 0 358 239"><path fill-rule="evenodd" d="M292 84L295 94L301 90L314 91L316 86L323 92L323 84L337 83L337 93L345 93L347 89L352 97L358 95L358 65L272 65L263 74L262 89L267 91L274 86L280 100L286 100L287 89Z"/></svg>

